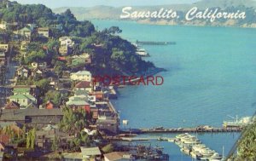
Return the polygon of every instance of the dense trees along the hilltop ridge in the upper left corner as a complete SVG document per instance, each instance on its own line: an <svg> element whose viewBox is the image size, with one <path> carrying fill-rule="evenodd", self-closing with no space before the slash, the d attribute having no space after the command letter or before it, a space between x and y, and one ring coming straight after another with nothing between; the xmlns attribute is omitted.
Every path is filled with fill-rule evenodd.
<svg viewBox="0 0 256 161"><path fill-rule="evenodd" d="M21 5L16 3L12 7L1 9L0 19L7 22L18 22L18 28L26 26L26 24L37 24L42 27L62 24L62 31L53 30L55 36L85 37L95 32L95 27L90 21L76 20L69 9L63 14L55 14L42 4Z"/></svg>

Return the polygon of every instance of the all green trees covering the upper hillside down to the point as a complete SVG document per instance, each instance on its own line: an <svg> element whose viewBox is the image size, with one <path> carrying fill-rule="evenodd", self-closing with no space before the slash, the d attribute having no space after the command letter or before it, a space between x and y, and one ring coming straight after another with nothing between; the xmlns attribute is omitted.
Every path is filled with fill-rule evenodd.
<svg viewBox="0 0 256 161"><path fill-rule="evenodd" d="M62 70L75 70L81 66L70 66L70 62L57 60L60 44L58 38L71 36L76 45L73 54L89 53L92 64L86 66L93 74L142 74L154 65L142 60L135 55L135 47L117 34L122 32L118 26L104 29L102 32L95 30L90 21L76 20L75 16L67 9L64 13L54 14L41 4L20 5L1 9L0 19L7 22L18 22L16 29L26 24L49 27L49 39L38 37L32 32L32 43L28 44L26 57L21 59L23 65L30 66L35 62L48 62L49 67L54 67L55 74L61 76ZM30 14L27 14L30 13ZM57 30L52 25L62 25L62 30ZM5 39L9 39L8 37ZM99 46L95 46L98 44ZM83 64L82 64L83 65Z"/></svg>

